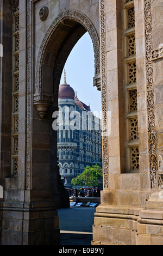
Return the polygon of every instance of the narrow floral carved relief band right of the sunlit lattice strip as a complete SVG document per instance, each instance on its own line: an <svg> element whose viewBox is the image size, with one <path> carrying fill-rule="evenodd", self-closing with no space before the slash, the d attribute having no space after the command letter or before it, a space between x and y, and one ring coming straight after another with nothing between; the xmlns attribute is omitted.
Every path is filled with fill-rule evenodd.
<svg viewBox="0 0 163 256"><path fill-rule="evenodd" d="M153 33L152 1L145 0L145 36L146 36L146 76L147 76L147 112L148 112L148 149L150 161L151 188L158 187L158 157L156 153L156 129L154 113L153 81Z"/></svg>

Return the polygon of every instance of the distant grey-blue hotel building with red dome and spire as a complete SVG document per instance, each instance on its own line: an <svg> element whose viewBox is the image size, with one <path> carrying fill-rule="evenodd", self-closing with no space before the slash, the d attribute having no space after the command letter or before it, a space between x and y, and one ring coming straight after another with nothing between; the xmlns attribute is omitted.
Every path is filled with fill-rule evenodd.
<svg viewBox="0 0 163 256"><path fill-rule="evenodd" d="M102 167L101 119L78 99L66 76L59 88L58 159L67 188L72 188L71 180L87 166L97 163Z"/></svg>

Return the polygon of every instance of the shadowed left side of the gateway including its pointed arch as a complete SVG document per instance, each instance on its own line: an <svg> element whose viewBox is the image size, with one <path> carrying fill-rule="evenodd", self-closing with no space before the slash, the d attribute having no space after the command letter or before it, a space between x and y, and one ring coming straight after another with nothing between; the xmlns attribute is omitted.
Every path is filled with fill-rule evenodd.
<svg viewBox="0 0 163 256"><path fill-rule="evenodd" d="M4 185L4 198L0 202L0 222L5 223L0 228L1 245L57 245L59 243L57 209L66 193L59 178L57 136L50 127L52 127L52 113L58 108L58 88L62 69L73 46L86 31L89 32L95 49L94 85L100 86L99 23L95 24L96 21L93 20L92 15L94 11L98 13L98 2L87 2L87 9L92 8L89 15L78 5L79 2L76 6L69 0L47 1L48 7L51 2L60 4L57 15L54 15L57 17L54 21L52 21L54 6L53 10L49 9L47 20L43 21L44 23L40 21L39 10L42 7L42 1L35 0L27 0L26 4L19 1L20 9L16 10L16 16L14 16L18 17L17 21L20 21L20 51L16 52L17 55L20 54L17 61L17 69L20 74L19 109L17 112L19 126L17 135L18 170L16 176L11 175L10 137L12 133L9 128L8 140L5 138L5 134L3 135L5 138L4 149L9 147L7 157L4 155L8 163L0 162L0 178ZM65 10L65 7L70 4L76 11ZM15 53L12 52L13 10L10 1L2 1L1 7L4 8L3 15L5 14L4 28L9 29L10 24L10 44L7 44L8 40L4 40L4 49L7 48L8 53L10 52L10 56L13 55L15 60ZM10 11L10 15L8 12L5 13L6 10ZM99 21L98 15L97 18ZM5 22L6 20L10 23ZM90 20L93 20L93 23ZM48 27L50 24L51 26ZM39 25L44 30L43 36L38 39L36 44L35 31ZM24 34L27 35L27 38ZM58 41L55 40L55 37ZM5 54L4 64L12 64L12 57ZM3 70L6 69L4 64ZM9 81L10 85L14 82L11 73L15 70L11 65L8 66L8 69L7 72L2 72L2 76L4 81ZM11 87L9 90L3 88L2 96L7 99L7 101L1 101L2 108L7 106L8 119L10 119ZM40 118L37 112L40 103L41 107L45 107L43 118ZM34 105L37 107L35 108ZM6 115L3 118L5 118L5 122L8 121ZM0 125L3 126L3 122ZM11 127L11 120L7 125ZM3 156L2 149L0 153ZM10 218L8 212L10 212ZM16 223L16 225L11 225L11 223Z"/></svg>

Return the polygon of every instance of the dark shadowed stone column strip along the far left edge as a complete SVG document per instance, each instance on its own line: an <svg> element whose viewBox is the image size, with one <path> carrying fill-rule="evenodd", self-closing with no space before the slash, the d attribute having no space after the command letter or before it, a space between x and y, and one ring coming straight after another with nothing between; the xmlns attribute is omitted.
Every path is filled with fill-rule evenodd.
<svg viewBox="0 0 163 256"><path fill-rule="evenodd" d="M0 184L10 175L11 161L11 109L12 109L12 7L1 1L0 38L3 57L0 57Z"/></svg>

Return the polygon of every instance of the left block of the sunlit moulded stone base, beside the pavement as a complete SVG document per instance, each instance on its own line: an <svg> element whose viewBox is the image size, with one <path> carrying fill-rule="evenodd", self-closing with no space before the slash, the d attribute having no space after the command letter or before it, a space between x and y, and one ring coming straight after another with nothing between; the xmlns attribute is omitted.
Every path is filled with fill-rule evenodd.
<svg viewBox="0 0 163 256"><path fill-rule="evenodd" d="M135 222L140 211L125 206L98 206L92 245L135 245Z"/></svg>

